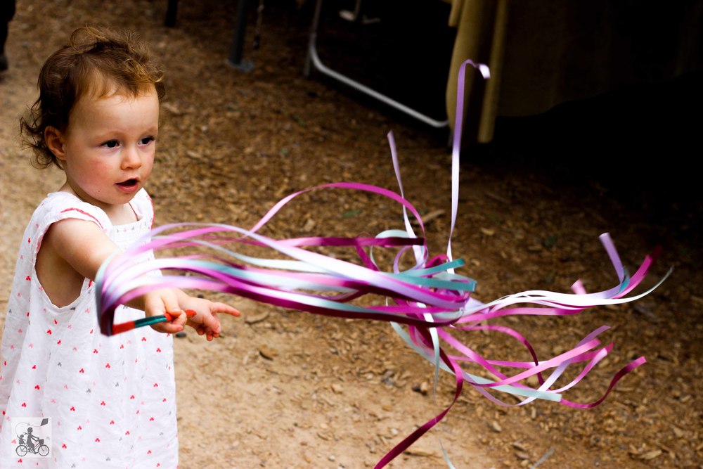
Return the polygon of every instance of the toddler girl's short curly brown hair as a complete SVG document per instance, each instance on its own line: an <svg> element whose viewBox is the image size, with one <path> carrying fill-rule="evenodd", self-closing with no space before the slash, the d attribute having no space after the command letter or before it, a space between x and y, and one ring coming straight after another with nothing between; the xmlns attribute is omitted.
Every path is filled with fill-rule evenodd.
<svg viewBox="0 0 703 469"><path fill-rule="evenodd" d="M83 96L101 98L118 93L138 96L156 89L165 95L163 72L134 32L85 26L75 30L69 44L51 54L39 73L39 98L20 119L23 143L34 150L34 163L45 168L60 161L44 141L46 127L65 131L71 111Z"/></svg>

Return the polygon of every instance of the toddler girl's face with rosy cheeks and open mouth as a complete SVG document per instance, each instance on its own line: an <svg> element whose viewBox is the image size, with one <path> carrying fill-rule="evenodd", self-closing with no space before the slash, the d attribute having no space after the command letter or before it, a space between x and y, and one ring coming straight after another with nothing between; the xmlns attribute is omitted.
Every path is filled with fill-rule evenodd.
<svg viewBox="0 0 703 469"><path fill-rule="evenodd" d="M62 135L66 181L75 193L108 214L134 198L154 163L159 131L155 89L136 98L84 96Z"/></svg>

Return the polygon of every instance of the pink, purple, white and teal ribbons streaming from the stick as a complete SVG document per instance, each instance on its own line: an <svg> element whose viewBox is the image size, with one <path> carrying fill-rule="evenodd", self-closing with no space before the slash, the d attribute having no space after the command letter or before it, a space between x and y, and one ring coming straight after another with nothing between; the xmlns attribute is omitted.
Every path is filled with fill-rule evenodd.
<svg viewBox="0 0 703 469"><path fill-rule="evenodd" d="M463 84L466 65L489 77L488 68L467 60L460 68L459 83ZM463 103L460 88L457 102ZM101 332L113 335L122 330L141 326L113 324L115 309L158 288L186 288L211 290L239 295L257 302L278 307L307 311L313 314L340 318L387 321L399 336L435 366L435 383L439 371L447 371L456 378L453 402L437 416L420 426L397 444L378 462L382 468L405 451L413 442L436 425L460 396L463 386L470 385L487 399L500 406L521 406L534 399L546 399L575 408L591 408L600 404L614 385L624 375L645 363L640 356L631 361L612 378L605 393L596 401L577 403L562 397L612 350L613 344L602 346L598 336L607 330L602 326L586 335L574 348L548 359L540 360L527 338L508 326L491 325L490 319L502 316L567 316L584 309L605 304L621 304L637 300L657 288L669 274L654 287L637 295L629 295L643 281L658 251L645 257L633 275L623 266L617 250L606 234L600 240L610 257L617 274L617 284L608 290L588 293L577 281L574 293L555 293L529 290L507 295L488 303L472 297L476 282L455 269L464 265L461 259L452 259L451 236L455 227L458 207L459 146L462 127L462 109L457 107L452 149L451 231L446 255L430 257L425 242L425 227L420 214L404 197L396 147L391 133L389 144L400 193L368 184L340 182L324 184L292 193L280 200L252 229L241 229L225 224L169 224L153 229L134 247L122 255L109 259L96 278L98 322ZM292 199L309 191L323 189L366 191L381 195L398 203L403 211L404 230L388 230L373 237L322 237L287 238L276 240L258 233L273 216ZM410 216L411 215L411 216ZM413 231L411 218L420 230ZM237 246L254 246L278 252L278 257L254 257L236 250ZM359 262L347 262L315 252L318 247L348 247L356 251ZM394 248L392 271L382 271L373 257L373 250ZM165 249L186 249L191 252L177 257L161 257L143 261L144 252ZM413 266L401 269L406 253L414 256ZM284 258L280 258L284 257ZM354 300L367 296L384 300L373 306L360 306ZM531 304L532 306L527 306ZM163 320L163 319L160 319ZM148 321L147 321L148 322ZM503 361L487 359L465 342L455 337L458 331L494 331L517 340L527 349L530 361ZM444 343L444 345L442 345ZM451 349L453 352L449 352ZM463 364L475 364L491 379L467 373ZM579 367L576 377L569 383L553 388L569 366ZM503 368L522 370L506 375ZM529 387L528 378L536 376L538 386ZM436 385L436 384L435 384ZM499 399L500 394L512 394L520 399L508 403ZM443 449L444 451L444 449ZM446 462L453 467L445 454Z"/></svg>

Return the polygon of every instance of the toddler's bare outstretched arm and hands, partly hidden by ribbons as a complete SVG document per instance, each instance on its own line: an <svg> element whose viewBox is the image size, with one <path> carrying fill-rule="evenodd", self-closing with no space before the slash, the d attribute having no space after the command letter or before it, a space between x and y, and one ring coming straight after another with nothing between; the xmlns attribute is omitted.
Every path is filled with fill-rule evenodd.
<svg viewBox="0 0 703 469"><path fill-rule="evenodd" d="M65 306L80 295L84 278L94 280L103 262L120 252L97 224L64 219L52 224L44 235L37 255L37 275L51 301L57 306ZM177 288L146 293L131 300L128 306L146 311L147 316L165 313L176 316L172 322L151 326L162 333L183 330L187 318L181 311L192 309L196 314L188 319L188 325L198 334L205 334L207 340L221 333L218 313L239 316L239 311L227 304L191 297Z"/></svg>

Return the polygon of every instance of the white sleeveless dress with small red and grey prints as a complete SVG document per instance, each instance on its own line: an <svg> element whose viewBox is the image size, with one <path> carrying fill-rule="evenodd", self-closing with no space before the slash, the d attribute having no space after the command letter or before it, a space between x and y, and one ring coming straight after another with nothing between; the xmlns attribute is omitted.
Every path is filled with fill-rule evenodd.
<svg viewBox="0 0 703 469"><path fill-rule="evenodd" d="M135 243L152 228L154 211L143 189L130 204L138 221L118 226L103 210L63 192L47 195L32 215L2 338L0 468L178 465L172 336L150 327L102 335L92 281L85 279L74 302L56 307L34 269L44 233L62 219L91 221L122 249ZM143 316L118 307L115 323ZM51 425L44 441L49 456L18 456L19 437L28 422L41 425L38 419ZM34 435L45 430L35 426Z"/></svg>

